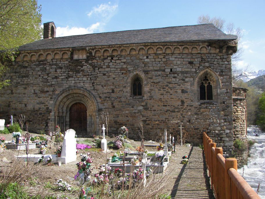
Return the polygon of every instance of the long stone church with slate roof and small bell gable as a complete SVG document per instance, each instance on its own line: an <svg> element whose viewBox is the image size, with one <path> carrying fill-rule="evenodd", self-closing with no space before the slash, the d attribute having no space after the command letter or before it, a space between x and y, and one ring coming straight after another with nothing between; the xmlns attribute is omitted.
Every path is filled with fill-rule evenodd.
<svg viewBox="0 0 265 199"><path fill-rule="evenodd" d="M155 140L182 124L190 142L201 143L207 130L229 154L236 51L237 36L213 24L56 38L48 22L43 39L19 47L0 77L11 83L0 90L0 117L22 113L31 132L59 125L91 137L108 111L109 134L125 125L137 138L141 120L145 138Z"/></svg>

